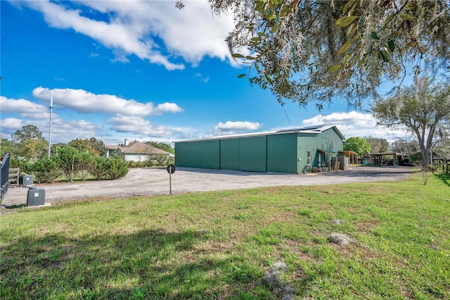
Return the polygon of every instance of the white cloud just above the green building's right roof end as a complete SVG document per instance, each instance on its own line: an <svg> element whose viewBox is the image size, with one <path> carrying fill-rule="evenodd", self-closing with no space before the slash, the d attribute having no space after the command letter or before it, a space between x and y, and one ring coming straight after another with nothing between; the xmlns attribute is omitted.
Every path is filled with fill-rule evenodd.
<svg viewBox="0 0 450 300"><path fill-rule="evenodd" d="M393 142L396 139L409 137L411 134L403 130L390 130L376 125L377 120L370 113L350 111L349 113L331 113L315 115L302 121L302 126L336 125L345 137L378 137Z"/></svg>

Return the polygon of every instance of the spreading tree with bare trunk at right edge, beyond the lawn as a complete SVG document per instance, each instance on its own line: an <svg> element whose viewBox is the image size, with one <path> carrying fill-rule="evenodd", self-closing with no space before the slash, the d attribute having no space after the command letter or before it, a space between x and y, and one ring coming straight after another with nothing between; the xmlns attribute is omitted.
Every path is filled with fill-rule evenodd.
<svg viewBox="0 0 450 300"><path fill-rule="evenodd" d="M378 125L416 135L425 168L435 138L449 134L450 83L426 76L416 78L413 85L375 101L372 111Z"/></svg>

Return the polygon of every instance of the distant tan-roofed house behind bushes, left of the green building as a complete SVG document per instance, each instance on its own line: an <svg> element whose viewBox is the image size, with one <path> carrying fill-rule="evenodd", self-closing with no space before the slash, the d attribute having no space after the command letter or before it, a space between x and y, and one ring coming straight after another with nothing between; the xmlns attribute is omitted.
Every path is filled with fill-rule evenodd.
<svg viewBox="0 0 450 300"><path fill-rule="evenodd" d="M167 151L141 142L131 142L129 144L125 144L125 146L107 145L107 147L107 158L109 156L113 156L117 150L120 150L124 161L152 161L158 157L169 158L169 156L173 156L173 154Z"/></svg>

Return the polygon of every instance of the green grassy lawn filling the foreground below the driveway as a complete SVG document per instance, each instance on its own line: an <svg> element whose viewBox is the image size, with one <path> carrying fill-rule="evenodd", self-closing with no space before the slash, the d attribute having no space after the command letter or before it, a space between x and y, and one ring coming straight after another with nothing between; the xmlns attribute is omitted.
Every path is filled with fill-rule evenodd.
<svg viewBox="0 0 450 300"><path fill-rule="evenodd" d="M0 299L449 299L449 212L450 176L417 173L21 208Z"/></svg>

